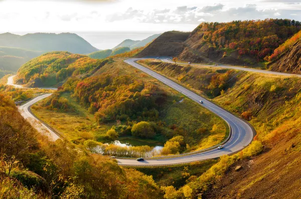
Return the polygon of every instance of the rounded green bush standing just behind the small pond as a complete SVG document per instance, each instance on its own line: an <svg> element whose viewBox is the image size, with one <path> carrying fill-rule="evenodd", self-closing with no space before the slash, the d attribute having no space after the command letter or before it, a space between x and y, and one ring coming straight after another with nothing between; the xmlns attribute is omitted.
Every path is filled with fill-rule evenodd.
<svg viewBox="0 0 301 199"><path fill-rule="evenodd" d="M152 125L146 121L140 121L133 125L131 129L132 135L138 137L154 137L156 135Z"/></svg>

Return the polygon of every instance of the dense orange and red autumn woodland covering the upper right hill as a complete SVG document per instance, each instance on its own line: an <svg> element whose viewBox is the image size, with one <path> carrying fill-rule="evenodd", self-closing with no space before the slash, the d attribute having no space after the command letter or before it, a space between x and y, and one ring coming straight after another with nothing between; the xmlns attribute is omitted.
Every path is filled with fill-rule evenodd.
<svg viewBox="0 0 301 199"><path fill-rule="evenodd" d="M273 50L300 28L299 21L290 19L238 20L203 22L194 32L203 32L204 41L218 49L238 50L239 55L267 61Z"/></svg>

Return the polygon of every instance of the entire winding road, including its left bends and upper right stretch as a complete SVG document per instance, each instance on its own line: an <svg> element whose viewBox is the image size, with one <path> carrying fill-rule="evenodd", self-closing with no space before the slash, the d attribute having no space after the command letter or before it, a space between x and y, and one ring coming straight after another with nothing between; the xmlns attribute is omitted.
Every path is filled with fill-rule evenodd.
<svg viewBox="0 0 301 199"><path fill-rule="evenodd" d="M200 100L202 100L204 103L200 103L203 107L211 110L221 118L223 118L231 127L231 137L229 140L224 144L223 149L217 149L213 148L204 152L185 155L185 156L174 156L170 158L149 158L145 159L144 161L136 161L135 159L131 158L116 158L118 161L118 164L120 165L131 165L131 166L152 166L152 165L168 165L168 164L179 164L179 163L186 163L186 162L192 162L192 161L199 161L199 160L205 160L205 159L211 159L211 158L217 158L221 155L225 154L232 154L237 151L240 151L244 147L246 147L253 139L253 136L255 135L255 130L251 127L249 123L246 121L240 119L239 117L233 115L232 113L224 110L223 108L217 106L216 104L208 101L207 99L199 96L198 94L192 92L191 90L179 85L178 83L170 80L169 78L166 78L157 72L148 69L138 63L136 63L137 60L141 60L145 58L130 58L124 60L124 62L132 65L133 67L152 75L154 78L157 78L158 80L162 81L163 83L169 85L170 87L178 90L182 94L186 95L187 97L191 98L192 100L200 103ZM165 62L172 62L169 58L166 57L160 57L162 61ZM181 64L187 64L187 63L181 63ZM199 65L199 64L194 64ZM299 76L297 74L289 74L289 73L283 73L283 72L273 72L268 70L260 70L260 69L253 69L253 68L244 68L244 67L237 67L237 66L228 66L228 65L206 65L210 67L223 67L223 68L231 68L231 69L238 69L238 70L244 70L244 71L251 71L251 72L260 72L260 73L267 73L267 74L274 74L274 75L285 75L285 76ZM20 87L20 85L16 85L13 83L13 76L9 77L8 84L14 85L16 87ZM22 87L22 86L21 86ZM22 113L22 115L27 118L31 119L35 122L40 122L29 110L29 107L36 103L37 101L48 97L50 94L44 94L39 97L34 98L33 100L27 102L26 104L19 106L19 111ZM36 119L36 120L35 120ZM42 123L43 130L47 130L49 135L53 138L53 140L56 140L59 138L59 136L53 132L49 127L44 125ZM39 131L41 129L38 128Z"/></svg>

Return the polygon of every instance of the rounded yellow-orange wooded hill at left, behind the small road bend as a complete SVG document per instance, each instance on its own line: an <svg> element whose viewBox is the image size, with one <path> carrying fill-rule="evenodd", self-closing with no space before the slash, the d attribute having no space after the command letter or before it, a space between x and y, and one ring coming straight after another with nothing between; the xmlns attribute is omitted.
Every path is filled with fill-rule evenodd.
<svg viewBox="0 0 301 199"><path fill-rule="evenodd" d="M102 60L86 55L62 51L48 52L22 65L16 80L33 87L54 86L69 76L100 67L101 63Z"/></svg>

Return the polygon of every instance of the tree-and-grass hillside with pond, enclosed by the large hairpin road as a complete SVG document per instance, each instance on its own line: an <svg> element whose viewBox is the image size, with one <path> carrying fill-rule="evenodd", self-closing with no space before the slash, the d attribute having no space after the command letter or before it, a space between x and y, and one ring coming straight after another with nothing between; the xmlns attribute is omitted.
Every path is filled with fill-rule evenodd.
<svg viewBox="0 0 301 199"><path fill-rule="evenodd" d="M106 148L107 155L137 157L158 155L152 152L154 143L166 145L161 153L166 155L221 142L227 136L225 123L196 104L122 60L113 59L91 76L70 77L32 111L73 143L85 145L92 139ZM134 130L140 122L148 126L147 131ZM120 141L127 138L141 144L123 149L103 145L119 137ZM120 153L122 150L127 152Z"/></svg>

